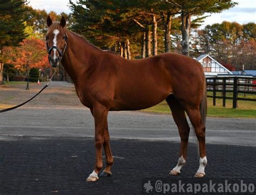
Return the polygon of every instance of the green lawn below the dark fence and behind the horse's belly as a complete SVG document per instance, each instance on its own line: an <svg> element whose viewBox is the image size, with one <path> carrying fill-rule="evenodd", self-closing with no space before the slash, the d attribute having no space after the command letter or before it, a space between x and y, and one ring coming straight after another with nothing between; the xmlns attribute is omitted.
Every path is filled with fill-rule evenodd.
<svg viewBox="0 0 256 195"><path fill-rule="evenodd" d="M210 94L209 94L210 95ZM217 94L220 95L220 94ZM230 96L231 94L227 94ZM239 95L243 98L244 94ZM246 95L245 98L256 99L256 95ZM208 117L232 117L232 118L252 118L256 119L256 102L238 100L238 108L232 108L232 100L226 100L226 107L222 107L222 99L216 99L216 106L212 106L212 98L208 98ZM165 101L151 108L142 110L143 112L152 112L159 114L171 114L171 110Z"/></svg>

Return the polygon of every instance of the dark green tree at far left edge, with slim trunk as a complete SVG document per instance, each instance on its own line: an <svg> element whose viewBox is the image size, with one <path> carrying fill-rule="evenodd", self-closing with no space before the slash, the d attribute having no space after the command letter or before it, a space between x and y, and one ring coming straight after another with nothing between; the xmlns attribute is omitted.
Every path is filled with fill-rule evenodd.
<svg viewBox="0 0 256 195"><path fill-rule="evenodd" d="M3 83L3 47L18 45L26 36L25 1L0 0L0 85Z"/></svg>

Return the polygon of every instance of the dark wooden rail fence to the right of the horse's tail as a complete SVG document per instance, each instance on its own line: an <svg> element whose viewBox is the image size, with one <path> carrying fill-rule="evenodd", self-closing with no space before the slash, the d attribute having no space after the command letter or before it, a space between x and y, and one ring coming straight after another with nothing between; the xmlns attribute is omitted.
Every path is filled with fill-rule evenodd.
<svg viewBox="0 0 256 195"><path fill-rule="evenodd" d="M226 106L226 100L233 100L233 108L237 108L237 101L256 101L256 98L238 98L238 94L256 95L256 77L246 76L225 76L225 77L207 77L207 91L213 92L213 95L207 95L213 99L213 106L216 106L216 99L223 99L223 107ZM217 95L221 92L221 96ZM226 93L232 93L233 96L226 96Z"/></svg>

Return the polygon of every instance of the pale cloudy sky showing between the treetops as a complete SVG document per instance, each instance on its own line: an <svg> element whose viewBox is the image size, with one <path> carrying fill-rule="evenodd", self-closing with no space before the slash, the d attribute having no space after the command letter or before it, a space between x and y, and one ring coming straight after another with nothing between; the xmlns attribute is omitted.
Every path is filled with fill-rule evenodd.
<svg viewBox="0 0 256 195"><path fill-rule="evenodd" d="M76 2L76 0L72 0ZM205 19L203 26L207 24L221 23L224 20L228 22L238 22L246 24L249 22L256 23L256 1L255 0L234 0L239 3L234 8L225 10L221 13L213 13ZM34 9L45 9L47 12L55 11L57 13L70 13L69 0L30 0L29 5ZM210 14L207 14L210 15Z"/></svg>

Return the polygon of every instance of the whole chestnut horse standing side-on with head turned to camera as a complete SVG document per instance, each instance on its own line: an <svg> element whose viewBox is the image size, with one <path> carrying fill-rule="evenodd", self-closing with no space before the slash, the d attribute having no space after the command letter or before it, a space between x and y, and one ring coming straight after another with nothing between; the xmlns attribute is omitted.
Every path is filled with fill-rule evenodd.
<svg viewBox="0 0 256 195"><path fill-rule="evenodd" d="M106 168L99 176L112 174L113 157L107 127L109 111L140 110L164 100L171 108L181 140L178 164L170 175L179 175L186 162L190 133L186 112L199 142L199 169L195 177L205 176L206 81L198 61L176 53L126 60L114 52L100 50L65 29L64 17L60 22L52 22L48 16L47 25L46 46L50 64L56 67L61 61L74 82L80 101L90 108L95 120L96 163L87 181L98 179L103 167L103 148Z"/></svg>

